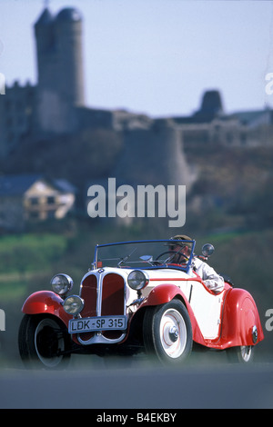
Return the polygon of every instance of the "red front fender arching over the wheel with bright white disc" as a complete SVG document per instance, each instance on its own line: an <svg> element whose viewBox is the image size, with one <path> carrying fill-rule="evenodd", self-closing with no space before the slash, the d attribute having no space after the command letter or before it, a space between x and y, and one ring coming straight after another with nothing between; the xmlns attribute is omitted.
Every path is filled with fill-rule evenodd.
<svg viewBox="0 0 273 427"><path fill-rule="evenodd" d="M189 315L192 327L193 341L202 345L206 345L204 337L198 326L197 319L192 311L191 306L187 302L187 297L179 288L177 288L175 284L158 284L158 286L152 289L152 291L149 293L147 301L143 303L141 307L145 305L159 305L163 303L169 303L176 297L182 300L187 307L187 313Z"/></svg>

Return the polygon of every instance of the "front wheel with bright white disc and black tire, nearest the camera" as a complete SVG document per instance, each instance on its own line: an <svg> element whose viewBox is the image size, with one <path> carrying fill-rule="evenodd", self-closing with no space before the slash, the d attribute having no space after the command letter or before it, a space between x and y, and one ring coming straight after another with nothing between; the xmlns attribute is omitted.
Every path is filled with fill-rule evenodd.
<svg viewBox="0 0 273 427"><path fill-rule="evenodd" d="M160 362L176 365L191 353L192 328L187 308L179 300L147 307L143 321L146 352Z"/></svg>

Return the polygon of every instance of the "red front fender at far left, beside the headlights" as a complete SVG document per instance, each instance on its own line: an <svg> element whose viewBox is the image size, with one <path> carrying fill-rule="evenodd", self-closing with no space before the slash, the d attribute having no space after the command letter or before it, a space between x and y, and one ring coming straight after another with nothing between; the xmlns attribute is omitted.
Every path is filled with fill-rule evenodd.
<svg viewBox="0 0 273 427"><path fill-rule="evenodd" d="M52 291L39 291L26 298L22 307L25 314L53 314L68 327L69 319L73 316L67 314L63 308L62 298Z"/></svg>

